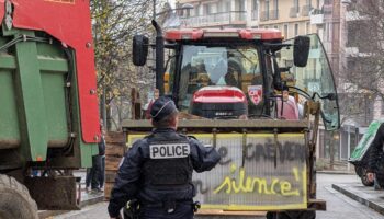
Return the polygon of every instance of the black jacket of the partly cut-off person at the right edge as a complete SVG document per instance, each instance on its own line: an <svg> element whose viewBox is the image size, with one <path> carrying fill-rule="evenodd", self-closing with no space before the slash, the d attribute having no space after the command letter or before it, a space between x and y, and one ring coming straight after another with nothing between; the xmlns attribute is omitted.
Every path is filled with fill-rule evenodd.
<svg viewBox="0 0 384 219"><path fill-rule="evenodd" d="M369 149L369 160L368 160L368 171L376 173L377 171L383 171L384 163L384 153L383 153L383 143L384 143L384 124L380 125L377 132L370 146ZM381 166L381 168L379 168Z"/></svg>

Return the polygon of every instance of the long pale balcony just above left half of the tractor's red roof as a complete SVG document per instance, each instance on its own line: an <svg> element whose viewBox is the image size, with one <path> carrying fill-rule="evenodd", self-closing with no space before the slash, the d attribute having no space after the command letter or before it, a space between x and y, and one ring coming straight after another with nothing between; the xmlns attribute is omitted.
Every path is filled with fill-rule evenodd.
<svg viewBox="0 0 384 219"><path fill-rule="evenodd" d="M180 18L182 27L246 24L246 11L229 11L199 16Z"/></svg>

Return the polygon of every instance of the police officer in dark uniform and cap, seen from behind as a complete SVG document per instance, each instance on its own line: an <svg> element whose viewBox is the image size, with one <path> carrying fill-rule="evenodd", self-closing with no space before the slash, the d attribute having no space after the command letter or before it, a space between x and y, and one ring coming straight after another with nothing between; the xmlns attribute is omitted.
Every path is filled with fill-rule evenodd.
<svg viewBox="0 0 384 219"><path fill-rule="evenodd" d="M192 219L192 172L210 171L221 157L214 148L176 132L178 110L172 100L157 99L150 116L153 134L136 141L120 166L110 217L120 218L121 208L137 199L142 219Z"/></svg>

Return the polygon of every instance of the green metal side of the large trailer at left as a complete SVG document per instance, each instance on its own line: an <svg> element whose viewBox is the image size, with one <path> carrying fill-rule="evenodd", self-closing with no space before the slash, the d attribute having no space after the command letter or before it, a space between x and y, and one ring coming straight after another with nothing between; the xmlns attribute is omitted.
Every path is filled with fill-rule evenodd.
<svg viewBox="0 0 384 219"><path fill-rule="evenodd" d="M89 166L98 147L81 140L74 50L43 32L2 27L0 170Z"/></svg>

